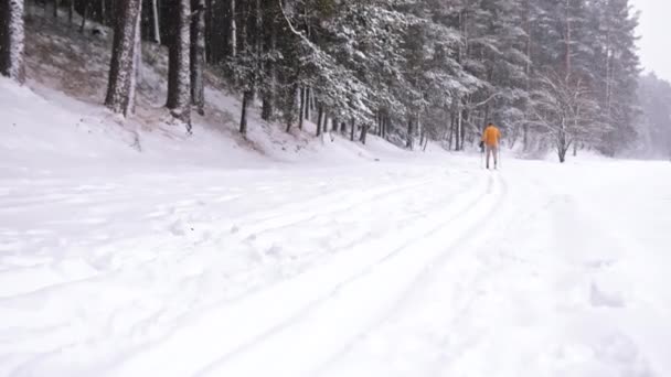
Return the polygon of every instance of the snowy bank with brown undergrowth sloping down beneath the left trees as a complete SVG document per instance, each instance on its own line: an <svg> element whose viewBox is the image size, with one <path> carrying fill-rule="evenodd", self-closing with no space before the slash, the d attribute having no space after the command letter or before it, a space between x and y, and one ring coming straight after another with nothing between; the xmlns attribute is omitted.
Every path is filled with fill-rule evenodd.
<svg viewBox="0 0 671 377"><path fill-rule="evenodd" d="M89 22L79 33L64 19L40 14L28 22L26 88L0 79L3 126L12 126L1 130L0 146L20 164L62 157L106 164L172 160L239 168L278 161L371 161L404 154L374 136L368 146L338 134L317 139L310 121L303 131L295 128L287 133L286 126L262 120L258 109L252 109L248 137L243 139L237 132L239 98L211 74L206 77L205 116L194 114L193 136L189 137L182 126L172 125L163 107L167 51L152 44L143 46L137 115L124 121L102 106L111 37L94 35L93 30L106 28Z"/></svg>

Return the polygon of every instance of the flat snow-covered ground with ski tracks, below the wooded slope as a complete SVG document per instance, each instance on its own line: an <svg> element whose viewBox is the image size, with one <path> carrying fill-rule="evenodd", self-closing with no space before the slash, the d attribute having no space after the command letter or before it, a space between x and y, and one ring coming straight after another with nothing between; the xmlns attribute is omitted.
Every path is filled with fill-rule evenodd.
<svg viewBox="0 0 671 377"><path fill-rule="evenodd" d="M0 376L670 375L671 165L504 168L8 172Z"/></svg>

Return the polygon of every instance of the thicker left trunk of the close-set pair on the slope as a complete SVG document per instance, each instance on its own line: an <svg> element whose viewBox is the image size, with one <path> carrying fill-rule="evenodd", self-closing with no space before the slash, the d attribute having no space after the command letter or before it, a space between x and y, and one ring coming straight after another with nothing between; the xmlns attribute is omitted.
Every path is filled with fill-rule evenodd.
<svg viewBox="0 0 671 377"><path fill-rule="evenodd" d="M168 53L168 100L166 107L191 131L191 0L171 1L175 21Z"/></svg>

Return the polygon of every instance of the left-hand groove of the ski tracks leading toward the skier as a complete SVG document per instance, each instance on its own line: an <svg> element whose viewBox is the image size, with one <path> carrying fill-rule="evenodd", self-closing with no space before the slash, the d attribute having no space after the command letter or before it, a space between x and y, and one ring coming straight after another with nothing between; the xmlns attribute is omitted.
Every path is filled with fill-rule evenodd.
<svg viewBox="0 0 671 377"><path fill-rule="evenodd" d="M238 306L220 308L210 311L206 317L199 319L196 326L175 332L177 334L173 334L167 342L146 352L149 355L145 355L145 352L140 353L139 357L125 363L120 370L116 370L113 374L140 375L149 373L151 368L150 365L155 363L155 360L163 359L166 357L175 357L175 355L180 353L179 349L182 344L194 340L199 340L199 342L206 344L214 344L217 340L221 342L222 337L227 336L224 342L219 343L216 348L204 349L198 355L192 355L190 358L193 360L183 358L180 363L175 364L171 370L167 371L169 375L192 375L217 357L225 358L225 356L244 354L245 351L253 348L255 344L281 332L291 324L300 322L316 309L323 306L323 304L337 293L373 273L379 269L380 265L387 262L402 251L414 249L412 248L413 241L420 237L435 234L441 228L443 223L437 227L432 227L428 231L419 230L420 233L417 233L417 230L414 229L422 229L425 226L424 224L427 223L445 222L445 218L447 218L447 223L452 222L456 216L473 205L475 202L481 197L480 195L483 195L483 192L477 191L476 194L468 193L467 195L472 198L468 201L455 200L455 202L458 203L458 206L448 206L447 211L432 216L430 220L425 219L420 224L414 224L412 231L404 231L408 234L405 237L394 238L394 241L391 243L388 239L384 239L382 243L373 240L355 245L344 255L349 258L331 260L323 269L313 269L308 271L308 273L300 276L298 279L273 287L270 290L260 292L256 297L246 298ZM393 250L385 250L385 245L395 245L397 243L402 243L403 246ZM363 257L361 256L362 252L368 252L368 255ZM334 266L338 268L334 268ZM355 272L349 274L350 270L354 270ZM312 287L306 291L305 288L301 289L302 286ZM275 305L269 304L269 302L273 301L273 298L277 297L284 298L281 303ZM292 309L294 302L296 302L296 309ZM257 310L254 310L254 308L259 304L269 304L270 306L276 308L281 314L266 316L268 313L256 313ZM231 314L232 312L237 315L231 317L234 315ZM249 313L256 314L249 315ZM258 314L262 316L258 322L248 317L243 320L245 316L258 316ZM251 327L242 333L236 331L235 327L237 327L237 324L241 322L246 322ZM236 337L239 337L239 340L235 340ZM224 355L224 357L221 355Z"/></svg>

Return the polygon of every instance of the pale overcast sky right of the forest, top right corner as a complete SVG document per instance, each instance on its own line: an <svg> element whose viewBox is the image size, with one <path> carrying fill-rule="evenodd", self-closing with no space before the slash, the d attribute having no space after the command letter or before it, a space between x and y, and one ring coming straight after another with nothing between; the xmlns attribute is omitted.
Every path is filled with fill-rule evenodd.
<svg viewBox="0 0 671 377"><path fill-rule="evenodd" d="M641 11L638 45L643 67L671 80L671 0L631 0L631 3Z"/></svg>

